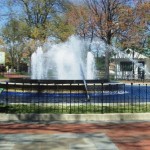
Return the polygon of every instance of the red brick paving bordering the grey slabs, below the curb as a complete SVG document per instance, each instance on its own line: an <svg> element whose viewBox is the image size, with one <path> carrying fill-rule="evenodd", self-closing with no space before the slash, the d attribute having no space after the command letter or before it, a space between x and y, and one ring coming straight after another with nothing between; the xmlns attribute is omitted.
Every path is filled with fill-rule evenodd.
<svg viewBox="0 0 150 150"><path fill-rule="evenodd" d="M123 124L0 124L0 133L105 133L120 150L150 150L150 122Z"/></svg>

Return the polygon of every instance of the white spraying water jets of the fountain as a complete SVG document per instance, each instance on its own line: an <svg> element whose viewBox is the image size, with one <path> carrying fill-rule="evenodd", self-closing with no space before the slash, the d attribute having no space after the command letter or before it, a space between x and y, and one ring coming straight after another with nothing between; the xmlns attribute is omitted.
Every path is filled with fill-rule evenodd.
<svg viewBox="0 0 150 150"><path fill-rule="evenodd" d="M46 45L45 52L38 47L31 58L31 79L93 80L95 60L86 44L72 36L65 43Z"/></svg>

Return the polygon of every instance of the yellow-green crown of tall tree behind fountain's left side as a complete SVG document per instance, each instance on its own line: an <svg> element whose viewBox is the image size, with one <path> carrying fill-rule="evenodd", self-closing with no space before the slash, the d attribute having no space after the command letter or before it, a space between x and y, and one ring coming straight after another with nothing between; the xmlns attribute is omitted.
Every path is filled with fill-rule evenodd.
<svg viewBox="0 0 150 150"><path fill-rule="evenodd" d="M24 19L30 31L29 38L44 41L49 36L56 35L64 41L70 35L68 25L64 22L56 24L58 20L55 20L60 14L62 17L67 7L66 2L60 0L18 0L18 2L23 8Z"/></svg>

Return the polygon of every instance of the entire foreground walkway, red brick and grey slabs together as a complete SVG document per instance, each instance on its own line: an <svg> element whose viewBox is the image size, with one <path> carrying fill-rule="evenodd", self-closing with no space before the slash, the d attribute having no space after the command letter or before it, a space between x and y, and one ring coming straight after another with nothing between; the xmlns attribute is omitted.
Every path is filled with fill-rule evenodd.
<svg viewBox="0 0 150 150"><path fill-rule="evenodd" d="M150 122L1 123L0 150L150 150Z"/></svg>

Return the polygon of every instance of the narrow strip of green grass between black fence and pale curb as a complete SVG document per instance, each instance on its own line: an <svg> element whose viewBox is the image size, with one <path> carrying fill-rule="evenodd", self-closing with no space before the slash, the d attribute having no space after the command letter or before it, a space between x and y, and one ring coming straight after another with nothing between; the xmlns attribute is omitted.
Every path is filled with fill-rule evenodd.
<svg viewBox="0 0 150 150"><path fill-rule="evenodd" d="M0 113L55 113L55 114L101 114L101 113L143 113L150 112L150 104L138 105L116 105L116 106L98 106L98 105L46 105L46 104L10 104L0 105Z"/></svg>

